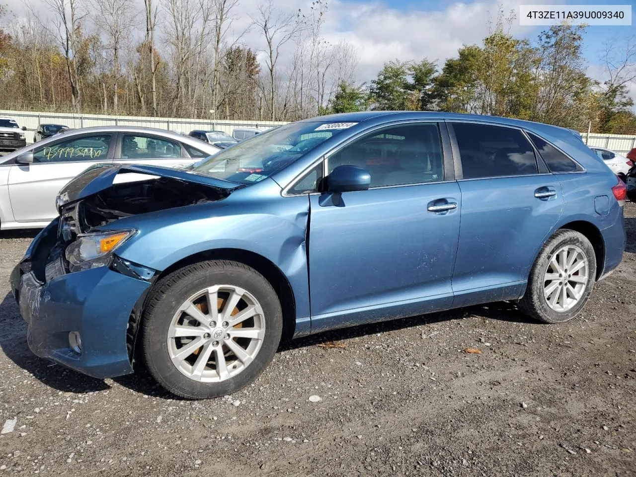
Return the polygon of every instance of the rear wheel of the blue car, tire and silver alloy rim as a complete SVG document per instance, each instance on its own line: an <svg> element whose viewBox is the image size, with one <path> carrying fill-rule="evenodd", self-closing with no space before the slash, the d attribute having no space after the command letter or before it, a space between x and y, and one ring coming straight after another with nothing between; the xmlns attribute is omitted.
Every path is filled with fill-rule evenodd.
<svg viewBox="0 0 636 477"><path fill-rule="evenodd" d="M567 269L566 266L562 270L566 273L561 273L561 276L567 275L567 272L570 273L567 282L558 278L560 275L558 268L556 268L564 263L562 261L564 249L565 263L572 259L570 269ZM574 270L576 267L579 268ZM596 271L596 255L590 240L574 230L558 230L539 252L539 256L530 270L528 286L523 298L519 301L519 308L523 313L544 323L553 324L568 321L581 312L590 298ZM587 279L582 283L584 275ZM563 286L560 283L563 283ZM563 300L562 294L563 287L566 290L565 300ZM547 296L546 293L548 293ZM555 297L555 293L558 293L558 296ZM577 300L572 301L575 298Z"/></svg>

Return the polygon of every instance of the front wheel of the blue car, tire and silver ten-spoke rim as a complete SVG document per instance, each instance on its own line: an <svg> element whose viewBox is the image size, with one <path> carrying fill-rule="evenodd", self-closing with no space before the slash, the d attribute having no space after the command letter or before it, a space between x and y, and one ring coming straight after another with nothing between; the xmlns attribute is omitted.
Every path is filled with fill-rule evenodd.
<svg viewBox="0 0 636 477"><path fill-rule="evenodd" d="M233 296L239 295L232 307L237 300ZM216 317L209 308L215 301ZM198 312L192 307L186 312L188 303ZM250 317L233 324L245 315ZM156 381L177 396L206 399L238 391L272 361L282 333L282 310L273 287L256 270L233 261L204 261L156 284L141 333L144 360ZM253 336L236 337L248 333ZM209 356L205 362L204 355Z"/></svg>

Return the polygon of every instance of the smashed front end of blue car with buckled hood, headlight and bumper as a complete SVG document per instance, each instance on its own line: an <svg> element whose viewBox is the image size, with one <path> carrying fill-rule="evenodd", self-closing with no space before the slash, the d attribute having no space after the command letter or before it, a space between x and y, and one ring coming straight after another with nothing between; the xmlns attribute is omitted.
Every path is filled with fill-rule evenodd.
<svg viewBox="0 0 636 477"><path fill-rule="evenodd" d="M59 218L11 273L31 350L93 377L131 373L138 319L130 317L139 317L156 270L116 255L137 230L113 223L222 200L237 186L214 182L162 167L100 165L67 184Z"/></svg>

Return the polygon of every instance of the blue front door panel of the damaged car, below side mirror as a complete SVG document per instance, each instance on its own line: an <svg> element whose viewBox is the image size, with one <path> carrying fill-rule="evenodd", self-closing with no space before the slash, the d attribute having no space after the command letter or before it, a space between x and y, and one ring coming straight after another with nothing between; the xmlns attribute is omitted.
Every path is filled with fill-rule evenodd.
<svg viewBox="0 0 636 477"><path fill-rule="evenodd" d="M449 308L455 182L310 196L312 332ZM439 200L457 208L429 212Z"/></svg>

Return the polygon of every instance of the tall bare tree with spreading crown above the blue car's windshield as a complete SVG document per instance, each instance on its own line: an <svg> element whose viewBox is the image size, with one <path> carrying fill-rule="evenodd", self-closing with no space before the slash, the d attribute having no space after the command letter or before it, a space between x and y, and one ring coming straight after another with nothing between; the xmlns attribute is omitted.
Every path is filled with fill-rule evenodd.
<svg viewBox="0 0 636 477"><path fill-rule="evenodd" d="M269 73L269 108L272 121L276 120L277 71L276 64L280 57L280 48L296 37L300 29L297 13L286 13L273 6L273 0L258 6L258 15L252 18L254 25L263 32L267 43L265 64Z"/></svg>

